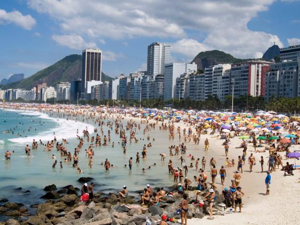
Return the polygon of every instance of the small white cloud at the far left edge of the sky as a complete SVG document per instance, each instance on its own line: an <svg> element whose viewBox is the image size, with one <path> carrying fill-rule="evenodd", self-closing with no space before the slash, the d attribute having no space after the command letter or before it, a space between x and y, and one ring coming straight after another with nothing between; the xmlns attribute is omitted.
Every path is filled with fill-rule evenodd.
<svg viewBox="0 0 300 225"><path fill-rule="evenodd" d="M23 15L19 11L6 12L0 9L0 24L14 23L25 30L31 30L36 20L31 15Z"/></svg>

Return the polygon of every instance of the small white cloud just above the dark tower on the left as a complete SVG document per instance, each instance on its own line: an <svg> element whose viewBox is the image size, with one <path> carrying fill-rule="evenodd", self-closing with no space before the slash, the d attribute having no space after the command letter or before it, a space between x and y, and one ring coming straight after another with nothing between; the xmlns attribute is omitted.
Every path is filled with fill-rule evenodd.
<svg viewBox="0 0 300 225"><path fill-rule="evenodd" d="M94 42L85 42L79 35L53 35L54 39L59 45L67 46L71 49L82 50L84 48L96 48Z"/></svg>

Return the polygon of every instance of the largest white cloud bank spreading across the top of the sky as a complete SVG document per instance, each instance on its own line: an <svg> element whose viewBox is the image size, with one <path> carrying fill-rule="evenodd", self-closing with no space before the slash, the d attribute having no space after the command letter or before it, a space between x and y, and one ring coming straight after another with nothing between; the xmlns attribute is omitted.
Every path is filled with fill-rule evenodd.
<svg viewBox="0 0 300 225"><path fill-rule="evenodd" d="M173 38L172 52L192 58L219 49L236 57L261 55L273 34L248 29L248 22L275 0L28 0L39 13L58 21L63 33L92 40L150 37ZM199 33L199 39L188 37ZM75 33L74 33L75 32ZM203 38L204 37L204 38Z"/></svg>

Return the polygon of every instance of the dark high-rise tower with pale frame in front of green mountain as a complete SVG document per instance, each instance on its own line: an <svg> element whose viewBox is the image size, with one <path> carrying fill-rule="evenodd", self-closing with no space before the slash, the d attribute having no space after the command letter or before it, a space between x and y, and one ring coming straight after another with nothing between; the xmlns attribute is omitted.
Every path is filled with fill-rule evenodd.
<svg viewBox="0 0 300 225"><path fill-rule="evenodd" d="M90 94L87 91L87 82L101 81L101 58L100 49L82 51L81 98L83 99L86 98L86 94Z"/></svg>

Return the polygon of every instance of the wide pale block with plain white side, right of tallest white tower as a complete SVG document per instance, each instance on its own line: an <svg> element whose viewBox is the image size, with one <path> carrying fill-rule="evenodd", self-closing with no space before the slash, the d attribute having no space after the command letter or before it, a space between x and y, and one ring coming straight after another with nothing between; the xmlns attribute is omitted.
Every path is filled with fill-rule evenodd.
<svg viewBox="0 0 300 225"><path fill-rule="evenodd" d="M196 72L197 64L194 62L173 62L165 65L164 100L172 99L176 94L176 78L187 72Z"/></svg>

